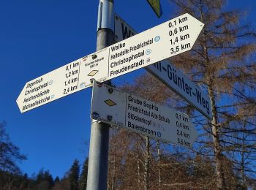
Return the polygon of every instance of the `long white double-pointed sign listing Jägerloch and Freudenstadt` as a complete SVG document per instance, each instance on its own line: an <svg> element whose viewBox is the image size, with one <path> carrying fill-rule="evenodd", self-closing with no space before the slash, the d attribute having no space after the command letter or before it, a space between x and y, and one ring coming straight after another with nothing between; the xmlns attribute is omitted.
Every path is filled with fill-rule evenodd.
<svg viewBox="0 0 256 190"><path fill-rule="evenodd" d="M23 113L87 88L92 79L110 80L190 50L202 28L203 23L184 14L61 66L26 83L18 107Z"/></svg>

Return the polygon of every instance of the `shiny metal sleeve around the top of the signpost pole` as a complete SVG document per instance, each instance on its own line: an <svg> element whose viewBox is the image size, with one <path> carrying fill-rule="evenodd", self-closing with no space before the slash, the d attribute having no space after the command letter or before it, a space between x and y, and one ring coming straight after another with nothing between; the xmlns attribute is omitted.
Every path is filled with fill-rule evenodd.
<svg viewBox="0 0 256 190"><path fill-rule="evenodd" d="M100 0L98 8L97 31L102 28L109 28L114 31L114 2L113 0Z"/></svg>

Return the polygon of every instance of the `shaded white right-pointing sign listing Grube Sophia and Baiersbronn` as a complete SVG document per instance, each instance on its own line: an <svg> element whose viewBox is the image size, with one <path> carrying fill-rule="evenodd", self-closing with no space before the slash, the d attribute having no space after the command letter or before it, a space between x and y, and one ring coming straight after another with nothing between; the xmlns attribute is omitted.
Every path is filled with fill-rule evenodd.
<svg viewBox="0 0 256 190"><path fill-rule="evenodd" d="M188 148L197 140L187 114L98 82L93 88L91 118Z"/></svg>

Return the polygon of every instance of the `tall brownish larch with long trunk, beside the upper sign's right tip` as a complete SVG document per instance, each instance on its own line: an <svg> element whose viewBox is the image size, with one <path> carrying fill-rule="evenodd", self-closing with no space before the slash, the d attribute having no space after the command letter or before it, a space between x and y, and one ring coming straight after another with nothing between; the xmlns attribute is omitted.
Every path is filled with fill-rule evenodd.
<svg viewBox="0 0 256 190"><path fill-rule="evenodd" d="M170 2L178 7L179 14L188 12L205 24L192 50L171 60L192 74L192 80L208 91L213 113L208 126L211 127L213 138L217 187L226 189L224 163L225 142L228 138L225 132L227 129L237 131L233 127L234 123L245 121L245 116L248 116L244 110L244 102L248 99L241 97L241 90L255 89L255 62L250 56L256 50L256 35L248 25L240 22L244 13L226 10L224 0ZM207 128L207 123L202 124ZM229 137L233 138L233 133Z"/></svg>

